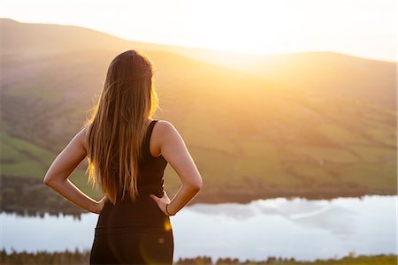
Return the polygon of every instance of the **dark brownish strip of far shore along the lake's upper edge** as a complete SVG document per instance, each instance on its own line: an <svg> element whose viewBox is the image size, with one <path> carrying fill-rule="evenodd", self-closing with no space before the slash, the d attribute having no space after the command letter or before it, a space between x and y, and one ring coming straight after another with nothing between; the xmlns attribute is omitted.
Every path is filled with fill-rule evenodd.
<svg viewBox="0 0 398 265"><path fill-rule="evenodd" d="M79 208L64 197L50 190L41 180L2 176L0 213L15 213L18 216L72 215L80 217L88 211ZM169 197L177 192L175 186L165 186ZM88 194L90 196L90 194ZM241 203L276 198L302 198L307 200L332 200L335 198L360 198L366 195L397 195L396 188L378 189L354 184L329 186L223 186L202 189L188 203ZM93 199L95 196L91 194ZM172 198L172 197L171 197ZM97 199L96 199L97 200ZM188 206L187 205L187 206Z"/></svg>

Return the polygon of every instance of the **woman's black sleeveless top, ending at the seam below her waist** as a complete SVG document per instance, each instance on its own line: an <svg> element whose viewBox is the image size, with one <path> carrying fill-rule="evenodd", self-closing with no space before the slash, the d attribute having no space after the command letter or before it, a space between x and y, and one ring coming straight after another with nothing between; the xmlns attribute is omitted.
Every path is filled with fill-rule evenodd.
<svg viewBox="0 0 398 265"><path fill-rule="evenodd" d="M167 161L163 155L154 157L149 151L150 136L156 123L157 120L150 122L142 141L143 157L139 161L137 183L139 198L136 201L132 201L128 193L126 193L123 199L121 199L121 194L119 194L115 205L106 200L103 210L98 216L96 229L128 227L130 230L136 228L139 231L140 227L157 226L164 228L165 225L170 225L169 216L166 216L158 208L157 203L149 197L151 193L159 198L162 197L165 187L164 171Z"/></svg>

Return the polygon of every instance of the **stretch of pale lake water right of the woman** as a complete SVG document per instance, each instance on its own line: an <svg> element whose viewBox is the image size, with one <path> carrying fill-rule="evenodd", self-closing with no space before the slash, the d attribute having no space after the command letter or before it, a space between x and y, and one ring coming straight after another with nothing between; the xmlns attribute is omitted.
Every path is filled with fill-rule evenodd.
<svg viewBox="0 0 398 265"><path fill-rule="evenodd" d="M197 204L174 220L175 227L197 225L177 236L179 254L239 257L267 256L299 260L356 254L393 254L396 250L396 196L257 200L241 205Z"/></svg>

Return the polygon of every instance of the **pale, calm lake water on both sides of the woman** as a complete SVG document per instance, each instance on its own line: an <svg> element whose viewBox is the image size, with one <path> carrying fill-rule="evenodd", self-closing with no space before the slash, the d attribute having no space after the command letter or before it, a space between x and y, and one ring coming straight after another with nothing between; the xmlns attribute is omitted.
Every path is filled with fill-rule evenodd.
<svg viewBox="0 0 398 265"><path fill-rule="evenodd" d="M397 196L333 200L276 198L248 204L195 204L171 217L174 261L206 255L261 261L355 254L396 254ZM0 214L7 253L90 249L98 216L21 217Z"/></svg>

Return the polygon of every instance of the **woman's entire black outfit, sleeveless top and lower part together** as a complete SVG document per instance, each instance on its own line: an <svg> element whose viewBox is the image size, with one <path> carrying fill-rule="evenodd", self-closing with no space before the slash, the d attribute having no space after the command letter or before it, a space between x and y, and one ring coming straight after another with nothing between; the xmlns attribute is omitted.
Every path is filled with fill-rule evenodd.
<svg viewBox="0 0 398 265"><path fill-rule="evenodd" d="M149 152L152 120L142 142L138 201L128 195L115 205L106 200L98 216L90 264L172 264L174 239L169 216L148 195L163 196L165 158Z"/></svg>

